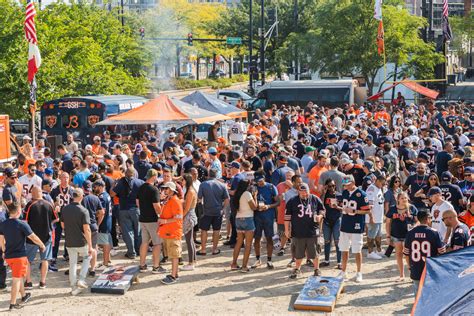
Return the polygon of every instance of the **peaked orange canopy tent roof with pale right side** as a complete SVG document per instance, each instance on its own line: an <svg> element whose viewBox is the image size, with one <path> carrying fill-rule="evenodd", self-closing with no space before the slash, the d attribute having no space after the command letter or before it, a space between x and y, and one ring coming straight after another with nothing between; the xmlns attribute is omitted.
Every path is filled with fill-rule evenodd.
<svg viewBox="0 0 474 316"><path fill-rule="evenodd" d="M167 95L160 95L140 107L109 117L97 125L184 125L230 119L229 116L203 110Z"/></svg>

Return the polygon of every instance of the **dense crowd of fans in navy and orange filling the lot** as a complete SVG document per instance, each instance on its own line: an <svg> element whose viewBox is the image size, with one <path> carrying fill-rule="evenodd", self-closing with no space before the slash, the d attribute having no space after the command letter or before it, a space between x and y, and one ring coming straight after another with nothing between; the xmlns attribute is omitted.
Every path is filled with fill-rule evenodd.
<svg viewBox="0 0 474 316"><path fill-rule="evenodd" d="M356 282L363 281L362 249L369 260L395 251L398 281L406 264L415 292L426 257L470 246L471 105L309 103L249 115L248 123L227 123L229 135L216 122L206 139L174 129L160 139L153 128L127 136L106 130L91 144L69 135L57 148L48 147L45 132L34 146L26 138L17 164L4 169L0 242L12 271L10 308L21 308L18 293L30 299L37 253L39 288L62 253L77 295L87 276L111 266L120 239L125 257L138 256L141 272L150 264L164 284L223 246L233 248L231 270L274 269L275 252L288 258L292 279L303 264L315 276L334 267L347 279L351 251Z"/></svg>

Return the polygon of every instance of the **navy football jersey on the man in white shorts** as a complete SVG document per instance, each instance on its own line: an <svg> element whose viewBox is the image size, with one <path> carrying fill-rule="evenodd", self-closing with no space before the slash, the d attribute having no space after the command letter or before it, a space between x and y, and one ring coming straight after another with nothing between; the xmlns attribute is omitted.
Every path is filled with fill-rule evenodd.
<svg viewBox="0 0 474 316"><path fill-rule="evenodd" d="M352 211L368 210L369 199L367 194L357 188L352 194L348 190L342 192L342 209L349 208ZM351 234L361 234L364 231L365 215L342 214L341 232Z"/></svg>

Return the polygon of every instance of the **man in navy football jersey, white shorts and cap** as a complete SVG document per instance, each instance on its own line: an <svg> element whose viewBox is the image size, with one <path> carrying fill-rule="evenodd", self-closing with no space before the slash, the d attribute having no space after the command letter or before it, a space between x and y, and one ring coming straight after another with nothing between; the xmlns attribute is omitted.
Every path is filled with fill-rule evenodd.
<svg viewBox="0 0 474 316"><path fill-rule="evenodd" d="M346 276L349 247L356 258L356 282L362 282L362 244L365 227L365 215L370 213L367 194L356 187L354 177L348 175L342 180L342 222L339 249L342 252L342 272Z"/></svg>

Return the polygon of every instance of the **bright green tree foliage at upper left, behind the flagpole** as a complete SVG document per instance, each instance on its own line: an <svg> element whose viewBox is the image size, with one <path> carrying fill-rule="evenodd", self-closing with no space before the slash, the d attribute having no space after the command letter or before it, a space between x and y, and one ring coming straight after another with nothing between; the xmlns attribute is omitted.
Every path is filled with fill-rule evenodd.
<svg viewBox="0 0 474 316"><path fill-rule="evenodd" d="M24 6L0 0L0 9L0 112L25 117L29 86ZM122 31L116 15L95 6L57 3L37 12L39 105L72 95L147 92L143 67L150 58L132 26Z"/></svg>

